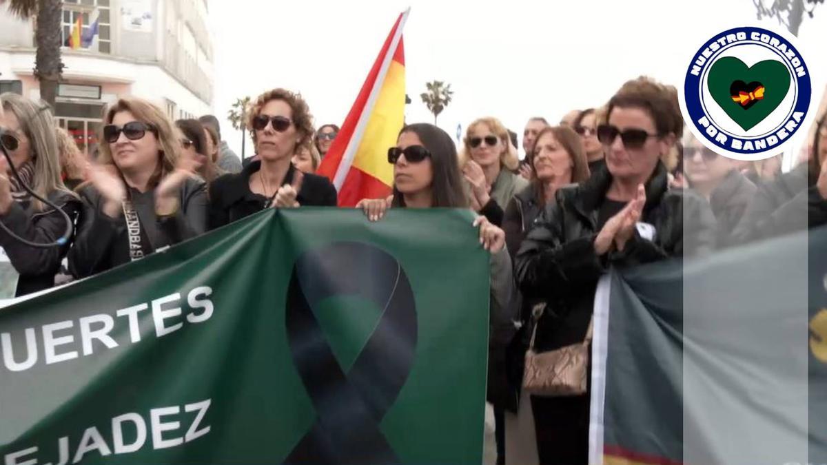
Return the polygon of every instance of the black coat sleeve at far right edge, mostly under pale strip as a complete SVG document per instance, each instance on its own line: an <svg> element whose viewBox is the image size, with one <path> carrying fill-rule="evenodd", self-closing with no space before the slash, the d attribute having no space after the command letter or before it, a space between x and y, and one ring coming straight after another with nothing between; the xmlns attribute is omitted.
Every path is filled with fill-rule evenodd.
<svg viewBox="0 0 827 465"><path fill-rule="evenodd" d="M827 224L827 200L808 180L807 170L800 165L758 187L732 241L758 241Z"/></svg>

